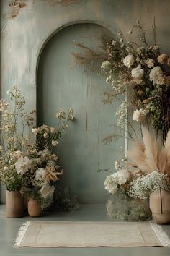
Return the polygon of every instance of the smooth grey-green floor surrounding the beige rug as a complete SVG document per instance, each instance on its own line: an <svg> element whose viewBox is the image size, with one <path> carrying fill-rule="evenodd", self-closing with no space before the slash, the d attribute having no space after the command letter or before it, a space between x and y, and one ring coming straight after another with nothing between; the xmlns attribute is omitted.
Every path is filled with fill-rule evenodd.
<svg viewBox="0 0 170 256"><path fill-rule="evenodd" d="M24 218L6 218L5 206L0 205L0 256L169 256L170 247L132 247L132 248L14 248L14 240L22 223L27 220L35 220L25 216ZM110 221L107 217L104 205L80 205L79 210L71 213L45 213L36 218L40 221ZM170 226L163 226L170 236Z"/></svg>

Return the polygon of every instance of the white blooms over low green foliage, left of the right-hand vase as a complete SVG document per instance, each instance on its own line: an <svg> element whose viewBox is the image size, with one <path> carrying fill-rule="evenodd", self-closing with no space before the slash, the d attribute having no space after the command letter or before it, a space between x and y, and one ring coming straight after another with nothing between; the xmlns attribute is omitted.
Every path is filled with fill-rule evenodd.
<svg viewBox="0 0 170 256"><path fill-rule="evenodd" d="M119 161L115 162L116 172L107 176L104 182L104 187L110 194L107 200L107 213L119 221L141 221L149 218L146 202L134 200L130 195L133 180L142 173L129 171L127 159L123 158L122 161L122 166Z"/></svg>

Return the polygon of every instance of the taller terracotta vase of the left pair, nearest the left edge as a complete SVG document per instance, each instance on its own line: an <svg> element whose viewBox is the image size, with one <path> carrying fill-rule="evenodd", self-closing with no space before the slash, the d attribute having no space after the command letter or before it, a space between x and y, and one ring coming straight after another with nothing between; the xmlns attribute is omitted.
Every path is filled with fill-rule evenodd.
<svg viewBox="0 0 170 256"><path fill-rule="evenodd" d="M19 191L6 190L6 217L19 218L24 214L24 200Z"/></svg>

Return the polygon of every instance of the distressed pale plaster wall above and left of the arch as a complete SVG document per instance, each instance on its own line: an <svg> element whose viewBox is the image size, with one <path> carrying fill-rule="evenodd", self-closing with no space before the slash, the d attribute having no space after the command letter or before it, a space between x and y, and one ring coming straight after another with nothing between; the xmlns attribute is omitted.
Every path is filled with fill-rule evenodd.
<svg viewBox="0 0 170 256"><path fill-rule="evenodd" d="M1 97L17 84L28 108L36 108L40 51L54 33L73 23L94 22L115 33L128 31L138 18L150 36L156 16L158 43L170 54L169 13L169 0L1 0Z"/></svg>

